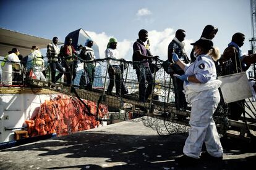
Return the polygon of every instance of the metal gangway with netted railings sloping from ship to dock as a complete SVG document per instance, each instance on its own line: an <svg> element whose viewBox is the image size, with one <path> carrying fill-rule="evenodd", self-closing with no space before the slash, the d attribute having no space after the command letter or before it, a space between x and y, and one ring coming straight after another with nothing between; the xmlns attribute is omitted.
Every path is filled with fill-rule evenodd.
<svg viewBox="0 0 256 170"><path fill-rule="evenodd" d="M26 70L26 65L24 65L20 75L22 76L22 83L32 88L50 89L61 94L77 97L78 99L103 103L112 109L123 110L124 112L120 111L118 114L125 115L122 117L124 120L127 119L127 113L139 115L145 126L152 127L160 135L187 132L189 129L190 105L188 104L187 108L183 110L176 109L173 81L171 81L171 76L162 67L163 60L151 61L153 90L147 102L139 102L139 83L133 66L134 62L126 60L119 60L119 62L122 65L122 82L126 85L128 94L116 96L115 87L112 94L106 94L109 84L109 60L112 59L96 59L93 62L87 62L77 57L73 64L75 66L75 75L71 74L71 84L66 83L67 72L64 73L57 83L52 83L49 64L46 64L45 69L41 70L45 71L46 79L44 81L39 78L33 78L31 71ZM33 61L28 62L33 63ZM82 76L87 76L83 69L87 63L93 63L95 66L93 89L90 90L80 87L80 79ZM31 68L33 70L33 64ZM56 75L58 75L58 72ZM241 121L234 121L228 119L228 106L223 100L221 101L214 115L218 131L221 135L250 139L248 134L251 135L252 131L256 131L255 107L250 99L247 100L245 107L247 108L245 113L249 116L246 116L246 118L245 116L244 118L241 117ZM239 127L239 134L228 132L230 126Z"/></svg>

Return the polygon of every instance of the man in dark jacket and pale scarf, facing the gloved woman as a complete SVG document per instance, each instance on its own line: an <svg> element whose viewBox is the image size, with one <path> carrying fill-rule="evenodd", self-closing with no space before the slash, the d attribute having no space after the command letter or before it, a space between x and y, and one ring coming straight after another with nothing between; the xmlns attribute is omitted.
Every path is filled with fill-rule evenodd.
<svg viewBox="0 0 256 170"><path fill-rule="evenodd" d="M184 63L189 63L189 58L187 57L187 54L184 49L185 43L182 42L184 41L185 37L186 37L186 31L181 29L176 31L173 41L171 41L168 46L169 62L173 63L172 56L174 52L175 54L178 55L179 60L182 60L182 62ZM174 73L177 75L184 75L184 71L176 63L173 63L173 70L174 70ZM173 74L171 74L171 78L173 79L175 106L177 110L186 110L187 102L186 102L185 94L183 93L183 81L173 76Z"/></svg>

